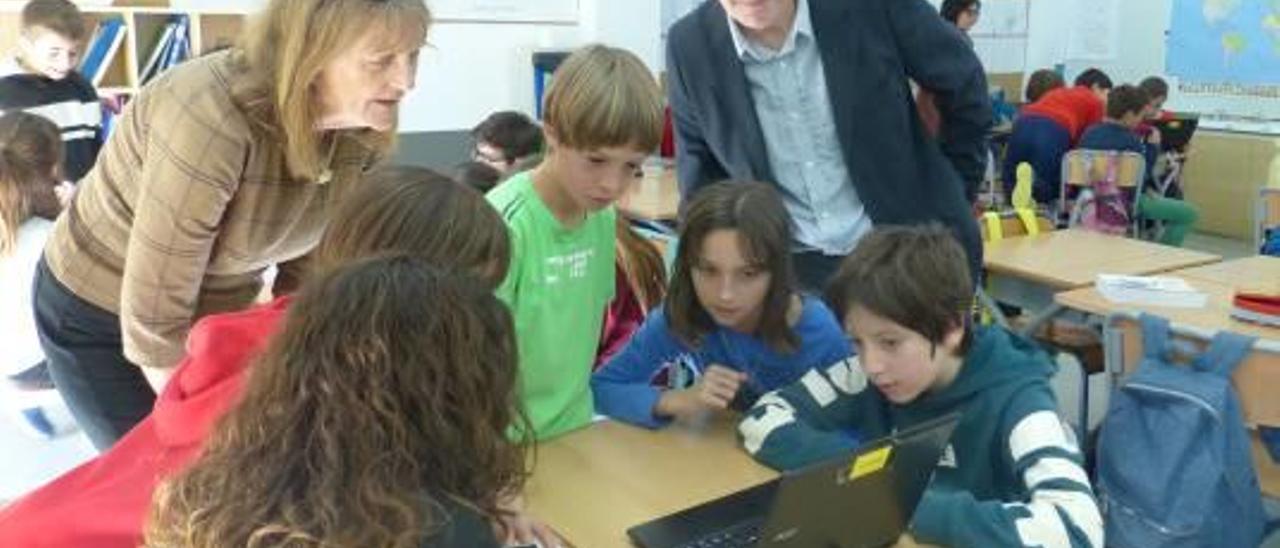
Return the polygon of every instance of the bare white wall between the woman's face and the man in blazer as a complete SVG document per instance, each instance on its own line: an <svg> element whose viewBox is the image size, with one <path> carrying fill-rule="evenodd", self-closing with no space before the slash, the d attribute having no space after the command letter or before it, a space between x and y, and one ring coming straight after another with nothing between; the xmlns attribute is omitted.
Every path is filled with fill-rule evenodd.
<svg viewBox="0 0 1280 548"><path fill-rule="evenodd" d="M538 0L529 0L538 1ZM264 0L173 0L174 6L255 10ZM430 5L430 0L428 1ZM660 3L579 0L577 24L442 22L428 37L417 88L401 106L401 131L470 129L494 110L532 114L536 49L604 42L634 51L654 72L662 64Z"/></svg>

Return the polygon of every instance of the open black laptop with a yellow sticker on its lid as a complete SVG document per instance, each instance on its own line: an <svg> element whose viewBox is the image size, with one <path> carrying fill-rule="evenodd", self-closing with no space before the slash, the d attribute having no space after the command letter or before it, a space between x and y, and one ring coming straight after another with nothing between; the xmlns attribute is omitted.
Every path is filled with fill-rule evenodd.
<svg viewBox="0 0 1280 548"><path fill-rule="evenodd" d="M641 548L893 544L933 478L959 414L627 530Z"/></svg>

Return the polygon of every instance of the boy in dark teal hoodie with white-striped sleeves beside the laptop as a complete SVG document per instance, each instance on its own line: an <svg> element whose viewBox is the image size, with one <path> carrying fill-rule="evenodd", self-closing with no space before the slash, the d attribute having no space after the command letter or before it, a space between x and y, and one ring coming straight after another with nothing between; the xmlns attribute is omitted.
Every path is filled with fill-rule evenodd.
<svg viewBox="0 0 1280 548"><path fill-rule="evenodd" d="M739 426L742 442L765 465L796 469L847 455L847 431L876 438L960 411L915 510L916 540L1102 547L1083 458L1050 389L1055 366L1002 328L970 325L973 287L946 229L873 230L827 291L859 356L763 396Z"/></svg>

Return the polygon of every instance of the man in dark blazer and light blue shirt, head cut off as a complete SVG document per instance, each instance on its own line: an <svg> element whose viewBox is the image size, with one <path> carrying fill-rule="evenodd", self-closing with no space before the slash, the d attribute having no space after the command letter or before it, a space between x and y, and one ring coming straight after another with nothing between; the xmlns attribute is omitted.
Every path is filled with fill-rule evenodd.
<svg viewBox="0 0 1280 548"><path fill-rule="evenodd" d="M908 78L936 96L936 140ZM685 202L723 179L776 184L806 289L873 224L942 223L980 270L987 79L925 0L707 0L667 36L667 91Z"/></svg>

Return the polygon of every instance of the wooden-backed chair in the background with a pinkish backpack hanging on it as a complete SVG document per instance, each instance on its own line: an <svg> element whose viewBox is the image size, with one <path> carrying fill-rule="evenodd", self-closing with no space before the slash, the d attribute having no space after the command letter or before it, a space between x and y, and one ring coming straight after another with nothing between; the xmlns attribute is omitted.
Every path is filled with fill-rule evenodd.
<svg viewBox="0 0 1280 548"><path fill-rule="evenodd" d="M1114 168L1114 173L1112 173ZM1115 186L1129 197L1129 236L1138 236L1138 195L1147 174L1147 160L1137 152L1114 150L1076 149L1062 156L1062 186L1059 192L1057 218L1065 219L1066 227L1080 223L1083 201L1076 200L1080 192L1097 181L1114 177ZM1068 196L1071 196L1070 198Z"/></svg>

